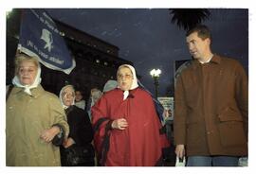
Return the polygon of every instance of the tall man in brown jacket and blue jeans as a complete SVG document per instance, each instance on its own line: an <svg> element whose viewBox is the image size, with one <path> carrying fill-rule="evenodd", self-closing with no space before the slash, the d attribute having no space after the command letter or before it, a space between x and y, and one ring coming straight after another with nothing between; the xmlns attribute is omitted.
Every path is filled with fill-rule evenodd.
<svg viewBox="0 0 256 174"><path fill-rule="evenodd" d="M247 155L246 72L211 53L207 26L195 26L186 40L193 61L175 86L175 153L189 166L238 165Z"/></svg>

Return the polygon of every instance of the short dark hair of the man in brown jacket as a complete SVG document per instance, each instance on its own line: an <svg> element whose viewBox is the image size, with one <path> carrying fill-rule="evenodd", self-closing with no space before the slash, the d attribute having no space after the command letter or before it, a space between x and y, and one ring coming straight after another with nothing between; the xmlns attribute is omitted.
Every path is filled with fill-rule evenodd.
<svg viewBox="0 0 256 174"><path fill-rule="evenodd" d="M191 35L193 32L197 32L198 37L201 38L202 40L205 40L207 38L211 40L210 29L208 26L204 26L204 25L194 26L192 29L190 29L186 33L186 36Z"/></svg>

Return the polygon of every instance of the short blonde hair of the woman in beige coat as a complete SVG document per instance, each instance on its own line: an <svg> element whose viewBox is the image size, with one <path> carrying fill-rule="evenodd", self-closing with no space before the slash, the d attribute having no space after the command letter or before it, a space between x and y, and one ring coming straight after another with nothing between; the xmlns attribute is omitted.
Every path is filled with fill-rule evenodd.
<svg viewBox="0 0 256 174"><path fill-rule="evenodd" d="M36 65L37 69L40 67L40 63L39 63L39 61L38 61L38 59L36 57L31 57L31 56L28 56L27 54L24 54L24 53L18 53L18 54L16 54L15 61L14 61L14 64L15 64L15 75L18 75L20 64L23 61L31 61L31 62L33 62Z"/></svg>

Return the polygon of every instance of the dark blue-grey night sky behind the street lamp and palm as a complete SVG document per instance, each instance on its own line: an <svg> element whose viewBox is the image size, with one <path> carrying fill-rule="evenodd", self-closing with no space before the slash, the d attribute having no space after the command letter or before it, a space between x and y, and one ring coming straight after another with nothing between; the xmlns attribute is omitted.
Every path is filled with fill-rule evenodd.
<svg viewBox="0 0 256 174"><path fill-rule="evenodd" d="M173 83L174 61L191 59L185 31L171 23L168 9L47 9L69 26L119 47L119 57L133 61L141 82L154 92L153 68L162 70L159 96ZM247 70L248 10L210 9L203 24L212 31L212 52L240 61Z"/></svg>

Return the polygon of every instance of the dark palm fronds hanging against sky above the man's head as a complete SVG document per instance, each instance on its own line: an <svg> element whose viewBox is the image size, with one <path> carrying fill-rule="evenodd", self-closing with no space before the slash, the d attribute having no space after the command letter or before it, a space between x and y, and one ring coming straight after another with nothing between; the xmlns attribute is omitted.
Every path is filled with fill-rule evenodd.
<svg viewBox="0 0 256 174"><path fill-rule="evenodd" d="M172 23L183 27L185 30L190 30L192 27L209 19L209 9L170 9L172 15Z"/></svg>

